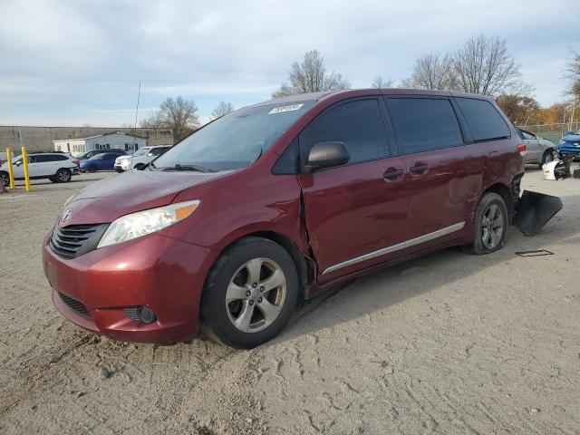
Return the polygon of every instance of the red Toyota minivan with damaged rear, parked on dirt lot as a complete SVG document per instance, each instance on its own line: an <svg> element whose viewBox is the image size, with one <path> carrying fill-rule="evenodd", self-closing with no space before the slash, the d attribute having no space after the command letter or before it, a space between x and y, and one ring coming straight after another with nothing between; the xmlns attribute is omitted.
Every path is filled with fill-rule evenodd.
<svg viewBox="0 0 580 435"><path fill-rule="evenodd" d="M262 102L69 199L44 272L57 309L89 331L174 343L203 322L251 348L343 280L445 247L501 248L525 151L481 95Z"/></svg>

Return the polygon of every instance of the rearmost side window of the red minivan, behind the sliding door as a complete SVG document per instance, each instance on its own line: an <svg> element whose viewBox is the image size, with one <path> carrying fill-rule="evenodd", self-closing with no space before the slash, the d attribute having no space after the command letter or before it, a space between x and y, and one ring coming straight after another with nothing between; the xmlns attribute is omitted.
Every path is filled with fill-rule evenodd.
<svg viewBox="0 0 580 435"><path fill-rule="evenodd" d="M456 98L469 124L473 140L494 140L511 136L506 121L493 104L473 98Z"/></svg>

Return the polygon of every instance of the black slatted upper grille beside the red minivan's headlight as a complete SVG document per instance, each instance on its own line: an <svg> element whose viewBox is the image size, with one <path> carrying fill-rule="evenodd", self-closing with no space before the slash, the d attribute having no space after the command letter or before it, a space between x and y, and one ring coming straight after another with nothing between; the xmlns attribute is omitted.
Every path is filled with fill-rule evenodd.
<svg viewBox="0 0 580 435"><path fill-rule="evenodd" d="M108 224L70 225L53 229L50 245L55 254L65 258L82 256L97 247Z"/></svg>

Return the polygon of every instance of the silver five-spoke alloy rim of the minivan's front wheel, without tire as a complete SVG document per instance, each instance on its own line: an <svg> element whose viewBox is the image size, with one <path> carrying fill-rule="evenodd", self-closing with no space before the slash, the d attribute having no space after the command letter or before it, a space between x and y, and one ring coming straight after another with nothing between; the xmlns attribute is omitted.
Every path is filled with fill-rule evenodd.
<svg viewBox="0 0 580 435"><path fill-rule="evenodd" d="M286 296L282 268L268 258L254 258L237 269L227 286L229 321L244 333L257 333L275 322Z"/></svg>

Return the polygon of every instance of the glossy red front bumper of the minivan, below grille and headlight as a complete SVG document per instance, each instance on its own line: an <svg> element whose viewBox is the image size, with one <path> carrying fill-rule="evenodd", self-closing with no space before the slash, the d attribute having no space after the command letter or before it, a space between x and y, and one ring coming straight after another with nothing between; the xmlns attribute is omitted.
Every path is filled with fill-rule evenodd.
<svg viewBox="0 0 580 435"><path fill-rule="evenodd" d="M130 342L177 343L197 335L214 251L151 234L65 259L53 253L48 238L44 274L53 287L53 304L73 324ZM66 296L83 304L87 315L66 304ZM157 319L151 324L131 319L124 310L136 306L149 307Z"/></svg>

